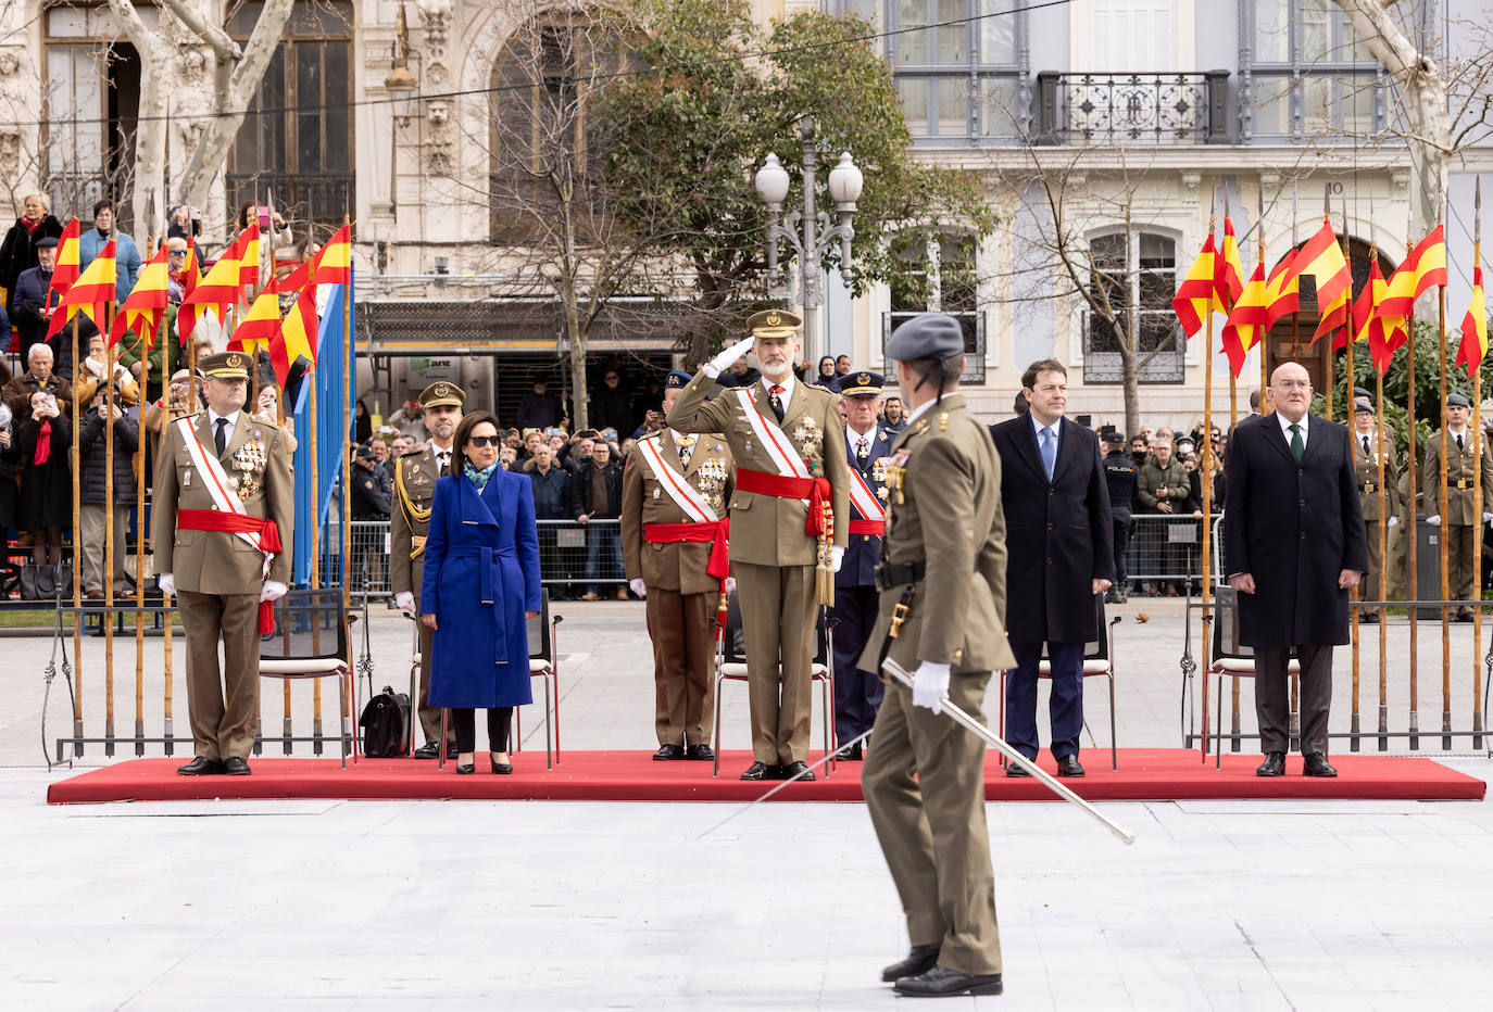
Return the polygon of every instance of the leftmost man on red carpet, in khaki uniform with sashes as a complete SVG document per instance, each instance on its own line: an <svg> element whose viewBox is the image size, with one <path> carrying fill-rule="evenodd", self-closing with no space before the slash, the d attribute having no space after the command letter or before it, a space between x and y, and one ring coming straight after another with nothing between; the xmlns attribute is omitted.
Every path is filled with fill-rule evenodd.
<svg viewBox="0 0 1493 1012"><path fill-rule="evenodd" d="M236 351L202 360L208 410L173 421L155 463L155 572L161 591L178 596L187 634L196 758L184 776L249 772L260 633L291 575L290 454L273 422L243 410L249 361Z"/></svg>

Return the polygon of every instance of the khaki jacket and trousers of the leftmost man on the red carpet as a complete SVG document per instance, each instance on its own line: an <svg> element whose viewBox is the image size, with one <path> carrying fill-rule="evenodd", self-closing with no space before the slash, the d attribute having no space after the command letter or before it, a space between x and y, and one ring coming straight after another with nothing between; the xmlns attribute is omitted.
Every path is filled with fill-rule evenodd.
<svg viewBox="0 0 1493 1012"><path fill-rule="evenodd" d="M215 455L208 412L197 413L197 442ZM285 434L239 410L218 455L230 485L251 516L273 519L285 551L269 579L290 584L296 488ZM155 463L151 540L155 572L176 584L187 634L187 709L196 754L208 760L248 758L260 703L258 603L264 555L237 534L178 530L178 509L216 509L208 478L193 463L178 424L170 424ZM224 670L219 685L218 643Z"/></svg>

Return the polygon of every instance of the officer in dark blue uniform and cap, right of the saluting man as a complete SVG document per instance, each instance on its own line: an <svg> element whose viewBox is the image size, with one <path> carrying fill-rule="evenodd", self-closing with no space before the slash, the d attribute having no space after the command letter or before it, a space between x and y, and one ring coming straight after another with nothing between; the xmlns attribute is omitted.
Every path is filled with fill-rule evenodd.
<svg viewBox="0 0 1493 1012"><path fill-rule="evenodd" d="M875 670L857 667L866 637L876 624L876 563L887 510L887 455L893 434L881 428L882 378L847 373L835 388L845 407L845 460L850 463L850 543L835 573L835 740L841 758L863 757L857 742L870 730L881 708L882 685ZM850 745L850 742L855 742Z"/></svg>

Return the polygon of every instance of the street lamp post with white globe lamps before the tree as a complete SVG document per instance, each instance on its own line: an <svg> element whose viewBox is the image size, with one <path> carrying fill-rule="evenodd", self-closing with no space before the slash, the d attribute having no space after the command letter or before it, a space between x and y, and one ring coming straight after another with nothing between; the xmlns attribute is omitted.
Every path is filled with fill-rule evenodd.
<svg viewBox="0 0 1493 1012"><path fill-rule="evenodd" d="M782 203L788 199L788 170L778 161L778 155L769 154L757 170L757 193L767 204L772 219L767 222L767 282L776 285L782 276L778 267L778 240L787 239L788 245L799 257L800 302L803 303L803 355L811 363L818 361L820 348L818 309L824 304L824 254L839 243L841 278L845 284L851 279L850 242L855 234L851 219L855 215L855 202L860 199L864 178L855 161L845 151L839 157L839 164L830 169L830 199L839 216L836 224L830 224L829 212L818 209L818 193L815 169L818 160L814 152L814 121L803 118L803 209L782 213ZM802 234L800 234L802 230Z"/></svg>

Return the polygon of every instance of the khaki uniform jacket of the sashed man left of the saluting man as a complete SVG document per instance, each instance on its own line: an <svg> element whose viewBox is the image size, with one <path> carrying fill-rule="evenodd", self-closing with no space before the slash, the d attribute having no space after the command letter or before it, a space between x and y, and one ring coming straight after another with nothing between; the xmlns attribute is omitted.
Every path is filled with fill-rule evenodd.
<svg viewBox="0 0 1493 1012"><path fill-rule="evenodd" d="M639 443L643 440L639 440ZM663 431L648 436L658 446L664 461L711 505L715 515L726 516L726 503L732 496L732 451L715 433L696 436L690 464L679 466L679 448L673 433ZM635 446L623 469L623 564L627 579L642 578L648 587L679 591L681 594L718 594L721 581L708 575L705 566L711 558L711 542L679 542L654 545L643 540L646 524L690 524L694 519L673 502L652 472L652 466Z"/></svg>

